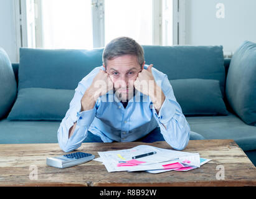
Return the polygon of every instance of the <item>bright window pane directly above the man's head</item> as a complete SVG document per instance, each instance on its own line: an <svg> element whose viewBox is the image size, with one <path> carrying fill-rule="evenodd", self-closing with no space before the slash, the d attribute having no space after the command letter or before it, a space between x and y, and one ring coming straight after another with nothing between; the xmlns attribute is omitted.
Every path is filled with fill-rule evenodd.
<svg viewBox="0 0 256 199"><path fill-rule="evenodd" d="M126 36L153 44L152 0L105 0L105 43Z"/></svg>

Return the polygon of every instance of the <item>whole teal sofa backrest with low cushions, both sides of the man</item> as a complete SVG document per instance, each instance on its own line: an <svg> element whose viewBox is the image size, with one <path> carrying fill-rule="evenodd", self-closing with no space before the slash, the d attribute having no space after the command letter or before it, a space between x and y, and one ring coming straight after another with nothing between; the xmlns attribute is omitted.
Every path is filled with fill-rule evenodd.
<svg viewBox="0 0 256 199"><path fill-rule="evenodd" d="M146 64L168 75L187 116L227 114L223 101L225 67L222 46L143 46ZM18 95L11 120L61 120L75 88L102 65L102 49L20 49L13 65ZM17 68L19 72L17 73ZM59 98L58 96L63 96Z"/></svg>

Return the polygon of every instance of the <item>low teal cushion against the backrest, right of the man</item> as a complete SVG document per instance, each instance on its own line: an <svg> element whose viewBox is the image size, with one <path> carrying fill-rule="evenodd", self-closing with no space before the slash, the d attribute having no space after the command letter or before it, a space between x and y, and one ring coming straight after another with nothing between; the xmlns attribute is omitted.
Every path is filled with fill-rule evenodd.
<svg viewBox="0 0 256 199"><path fill-rule="evenodd" d="M170 80L174 96L185 116L226 115L219 80Z"/></svg>

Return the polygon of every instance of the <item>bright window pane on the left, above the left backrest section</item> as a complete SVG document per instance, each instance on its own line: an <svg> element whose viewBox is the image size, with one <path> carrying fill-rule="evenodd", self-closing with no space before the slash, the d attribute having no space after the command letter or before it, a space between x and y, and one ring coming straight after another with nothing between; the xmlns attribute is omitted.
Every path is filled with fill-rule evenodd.
<svg viewBox="0 0 256 199"><path fill-rule="evenodd" d="M91 2L42 0L42 40L47 49L92 49Z"/></svg>

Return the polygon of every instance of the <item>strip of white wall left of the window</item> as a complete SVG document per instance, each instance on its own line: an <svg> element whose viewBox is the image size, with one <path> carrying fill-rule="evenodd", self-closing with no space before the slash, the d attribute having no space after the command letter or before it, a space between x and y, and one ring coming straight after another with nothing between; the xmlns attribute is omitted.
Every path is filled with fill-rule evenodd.
<svg viewBox="0 0 256 199"><path fill-rule="evenodd" d="M0 0L0 47L7 52L12 63L17 62L14 0Z"/></svg>

